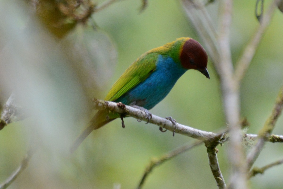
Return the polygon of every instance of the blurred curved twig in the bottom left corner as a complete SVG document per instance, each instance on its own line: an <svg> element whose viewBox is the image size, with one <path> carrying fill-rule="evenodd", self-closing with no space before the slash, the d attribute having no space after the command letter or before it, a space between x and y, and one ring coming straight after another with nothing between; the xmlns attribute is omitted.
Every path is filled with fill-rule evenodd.
<svg viewBox="0 0 283 189"><path fill-rule="evenodd" d="M35 153L35 149L32 148L31 146L34 146L34 144L30 143L27 154L25 155L25 158L23 158L23 161L21 162L20 166L16 169L16 171L12 175L10 175L10 177L8 177L8 179L4 183L0 185L0 189L5 189L8 186L10 186L10 184L12 184L12 182L23 172L23 170L25 170L25 168L29 163L29 160Z"/></svg>

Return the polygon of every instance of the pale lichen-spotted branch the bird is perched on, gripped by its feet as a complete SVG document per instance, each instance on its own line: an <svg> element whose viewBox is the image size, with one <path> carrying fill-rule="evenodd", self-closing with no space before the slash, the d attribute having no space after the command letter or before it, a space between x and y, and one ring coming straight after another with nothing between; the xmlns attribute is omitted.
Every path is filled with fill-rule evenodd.
<svg viewBox="0 0 283 189"><path fill-rule="evenodd" d="M117 112L119 114L127 114L128 116L131 116L133 118L143 120L145 122L148 121L147 114L144 111L124 105L122 103L93 99L93 105L95 109L109 110L112 112ZM175 133L192 137L194 139L204 140L215 136L215 133L202 131L179 123L173 124L170 120L158 117L156 115L152 115L149 123L155 124Z"/></svg>

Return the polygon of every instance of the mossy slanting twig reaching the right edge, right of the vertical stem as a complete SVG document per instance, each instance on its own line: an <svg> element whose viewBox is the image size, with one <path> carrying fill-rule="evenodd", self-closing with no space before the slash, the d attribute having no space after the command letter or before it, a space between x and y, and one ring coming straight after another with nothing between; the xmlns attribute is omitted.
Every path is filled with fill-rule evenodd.
<svg viewBox="0 0 283 189"><path fill-rule="evenodd" d="M283 108L283 86L280 88L279 94L276 98L275 106L271 112L271 115L266 120L263 128L260 130L259 139L256 145L252 148L247 155L247 170L250 170L256 159L258 158L265 141L268 139L268 135L273 131L275 123L282 112Z"/></svg>

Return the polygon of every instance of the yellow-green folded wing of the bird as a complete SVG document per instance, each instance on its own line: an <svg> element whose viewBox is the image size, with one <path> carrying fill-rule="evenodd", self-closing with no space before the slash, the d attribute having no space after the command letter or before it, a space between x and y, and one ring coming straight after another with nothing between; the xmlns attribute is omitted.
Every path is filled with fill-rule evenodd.
<svg viewBox="0 0 283 189"><path fill-rule="evenodd" d="M144 81L156 69L158 53L146 52L132 63L113 84L105 100L115 101L134 86Z"/></svg>

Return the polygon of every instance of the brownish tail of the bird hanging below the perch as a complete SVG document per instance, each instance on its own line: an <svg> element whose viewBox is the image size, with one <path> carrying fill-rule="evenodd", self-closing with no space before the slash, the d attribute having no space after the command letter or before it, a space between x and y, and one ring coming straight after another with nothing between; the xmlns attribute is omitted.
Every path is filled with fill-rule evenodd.
<svg viewBox="0 0 283 189"><path fill-rule="evenodd" d="M94 129L99 129L100 127L104 126L105 124L109 123L110 121L114 120L115 118L107 119L107 112L106 111L98 111L95 116L91 119L89 125L78 135L70 148L70 152L73 153L78 146L83 142L83 140L93 131Z"/></svg>

